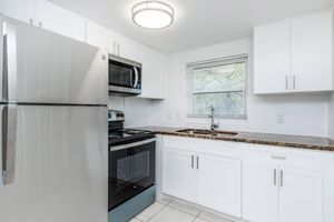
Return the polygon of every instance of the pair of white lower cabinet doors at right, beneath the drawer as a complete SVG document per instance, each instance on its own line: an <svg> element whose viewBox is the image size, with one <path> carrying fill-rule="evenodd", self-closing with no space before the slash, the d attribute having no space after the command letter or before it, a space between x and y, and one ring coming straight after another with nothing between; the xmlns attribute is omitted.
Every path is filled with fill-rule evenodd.
<svg viewBox="0 0 334 222"><path fill-rule="evenodd" d="M322 222L321 171L286 167L284 161L246 160L244 219L250 222Z"/></svg>

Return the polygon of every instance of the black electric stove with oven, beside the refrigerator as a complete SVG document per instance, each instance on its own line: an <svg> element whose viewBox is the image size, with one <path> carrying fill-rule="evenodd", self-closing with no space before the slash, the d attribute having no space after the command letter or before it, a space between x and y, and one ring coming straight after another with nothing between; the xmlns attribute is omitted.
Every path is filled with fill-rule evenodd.
<svg viewBox="0 0 334 222"><path fill-rule="evenodd" d="M120 111L110 110L108 119L109 211L115 221L121 222L127 220L120 219L124 218L124 213L118 214L124 211L120 209L127 209L127 215L139 213L138 208L130 208L131 201L155 189L156 138L149 131L125 129L125 117ZM155 196L145 200L151 200L150 204Z"/></svg>

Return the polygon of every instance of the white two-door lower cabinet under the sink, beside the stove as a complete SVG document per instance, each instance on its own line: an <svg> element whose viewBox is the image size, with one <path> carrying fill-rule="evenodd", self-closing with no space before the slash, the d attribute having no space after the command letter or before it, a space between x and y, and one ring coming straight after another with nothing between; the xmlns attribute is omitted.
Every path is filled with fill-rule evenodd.
<svg viewBox="0 0 334 222"><path fill-rule="evenodd" d="M240 218L240 160L186 150L191 147L163 145L163 193Z"/></svg>

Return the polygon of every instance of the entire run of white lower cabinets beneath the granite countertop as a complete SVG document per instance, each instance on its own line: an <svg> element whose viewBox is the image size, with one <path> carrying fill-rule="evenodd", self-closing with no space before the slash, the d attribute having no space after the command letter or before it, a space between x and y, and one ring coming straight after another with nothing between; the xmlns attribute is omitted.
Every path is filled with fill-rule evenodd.
<svg viewBox="0 0 334 222"><path fill-rule="evenodd" d="M164 194L247 222L333 221L328 152L170 135L161 141Z"/></svg>

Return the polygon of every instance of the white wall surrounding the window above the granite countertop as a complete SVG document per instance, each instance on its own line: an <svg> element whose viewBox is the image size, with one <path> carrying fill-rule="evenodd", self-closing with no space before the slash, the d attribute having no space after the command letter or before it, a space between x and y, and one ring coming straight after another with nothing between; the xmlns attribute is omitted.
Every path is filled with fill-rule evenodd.
<svg viewBox="0 0 334 222"><path fill-rule="evenodd" d="M245 130L327 137L328 94L253 94L252 40L243 39L169 56L166 100L153 102L154 124L208 128L208 119L187 118L188 78L186 64L202 60L249 54L247 120L220 120L224 130ZM333 104L334 107L334 104ZM276 123L283 114L285 123Z"/></svg>

